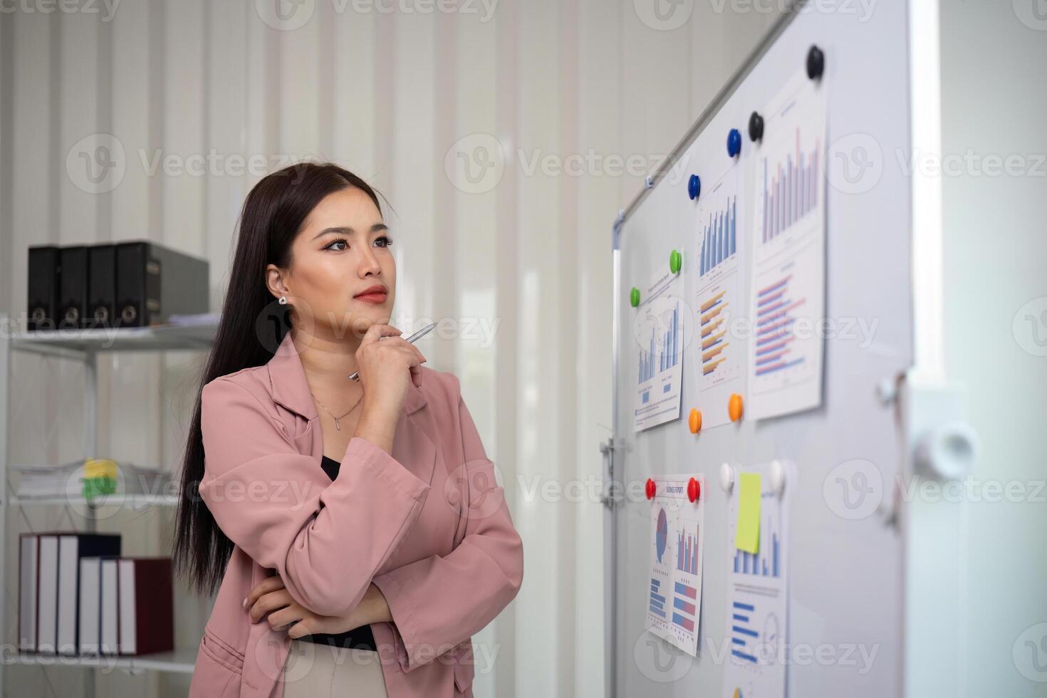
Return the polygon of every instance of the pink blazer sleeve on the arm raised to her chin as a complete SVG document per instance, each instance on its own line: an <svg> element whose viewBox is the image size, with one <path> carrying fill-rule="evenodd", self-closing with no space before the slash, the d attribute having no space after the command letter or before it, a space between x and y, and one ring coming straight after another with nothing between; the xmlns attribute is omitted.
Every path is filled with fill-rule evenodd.
<svg viewBox="0 0 1047 698"><path fill-rule="evenodd" d="M200 496L296 602L342 615L418 517L429 485L361 436L350 440L332 481L263 402L225 377L204 385Z"/></svg>

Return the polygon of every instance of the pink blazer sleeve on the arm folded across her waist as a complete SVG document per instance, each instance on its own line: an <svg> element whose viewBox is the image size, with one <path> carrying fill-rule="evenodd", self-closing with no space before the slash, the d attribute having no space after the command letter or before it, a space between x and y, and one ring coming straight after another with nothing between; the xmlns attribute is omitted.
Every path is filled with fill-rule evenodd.
<svg viewBox="0 0 1047 698"><path fill-rule="evenodd" d="M446 556L423 558L373 580L389 607L396 655L404 672L482 630L513 600L524 579L520 536L462 399L461 383L451 376L465 455L458 475L466 478L469 492L462 514L467 517L465 536Z"/></svg>

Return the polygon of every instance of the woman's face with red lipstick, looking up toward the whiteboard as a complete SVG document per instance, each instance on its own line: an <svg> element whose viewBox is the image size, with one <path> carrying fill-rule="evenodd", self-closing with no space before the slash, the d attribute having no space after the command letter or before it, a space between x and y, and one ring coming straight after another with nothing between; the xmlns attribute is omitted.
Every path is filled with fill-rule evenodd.
<svg viewBox="0 0 1047 698"><path fill-rule="evenodd" d="M328 330L340 339L388 323L396 262L387 232L375 202L355 186L316 205L292 243L290 273L281 276L296 324L309 322L314 334Z"/></svg>

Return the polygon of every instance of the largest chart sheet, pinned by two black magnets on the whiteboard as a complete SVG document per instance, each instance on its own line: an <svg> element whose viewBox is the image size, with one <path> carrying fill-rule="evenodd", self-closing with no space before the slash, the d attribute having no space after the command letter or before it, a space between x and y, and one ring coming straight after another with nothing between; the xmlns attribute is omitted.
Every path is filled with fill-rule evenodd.
<svg viewBox="0 0 1047 698"><path fill-rule="evenodd" d="M754 153L745 406L754 419L821 403L825 110L824 86L798 73L763 112Z"/></svg>

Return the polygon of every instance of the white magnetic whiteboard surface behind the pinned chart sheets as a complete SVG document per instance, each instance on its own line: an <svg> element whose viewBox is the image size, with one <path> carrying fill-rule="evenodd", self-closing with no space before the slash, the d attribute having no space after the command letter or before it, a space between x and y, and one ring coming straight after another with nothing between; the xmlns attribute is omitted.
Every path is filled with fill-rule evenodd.
<svg viewBox="0 0 1047 698"><path fill-rule="evenodd" d="M831 486L832 473L839 472L834 469L855 459L875 464L885 488L901 468L903 434L893 410L877 399L877 385L909 367L913 354L911 192L901 166L910 151L907 12L906 3L879 3L868 17L805 10L783 19L721 98L691 132L682 134L670 162L620 217L612 477L626 496L609 515L612 695L730 695L725 693L722 661L707 650L709 643L719 647L725 640L727 566L734 555L726 533L729 497L718 486L719 470L723 463L745 469L775 458L795 464L795 476L785 486L790 498L787 641L822 648L836 657L794 657L787 695L878 698L901 693L901 536L882 513L841 516L823 489L827 481ZM820 405L773 419L743 418L692 434L688 412L697 388L695 364L686 357L694 351L689 346L680 419L636 431L640 344L629 290L645 288L652 270L667 267L673 249L683 253L681 274L688 295L694 280L695 202L687 196L687 178L672 176L669 167L681 163L687 174L701 174L704 188L712 184L716 176L706 174L721 172L729 162L727 135L736 128L742 133L737 159L741 186L752 192L755 168L747 159L754 153L747 134L750 114L803 70L812 44L825 54L822 81L829 144L852 157L855 149L865 148L857 157L868 156L871 166L878 167L869 175L873 180L863 180L853 190L847 190L846 178L826 186L824 312L839 323L839 336L825 339ZM828 157L839 156L830 148ZM753 224L750 203L738 211L739 234L749 234ZM740 269L740 286L748 293L749 263L742 260ZM843 323L859 320L871 329L867 336L856 339L856 331L842 330ZM629 493L642 493L649 476L672 473L701 473L707 482L698 654L691 658L667 650L661 659L652 659L649 643L661 640L644 629L651 506L642 494ZM865 662L850 654L844 659L860 648L874 652L874 658ZM659 660L674 666L652 669L651 662Z"/></svg>

